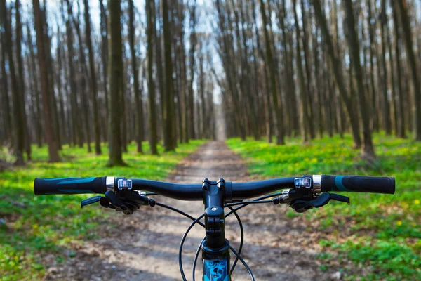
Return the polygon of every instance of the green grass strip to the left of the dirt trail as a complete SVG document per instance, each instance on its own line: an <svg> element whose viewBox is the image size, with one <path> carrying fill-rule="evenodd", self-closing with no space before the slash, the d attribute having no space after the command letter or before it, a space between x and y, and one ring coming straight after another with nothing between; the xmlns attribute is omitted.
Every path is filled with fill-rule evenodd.
<svg viewBox="0 0 421 281"><path fill-rule="evenodd" d="M33 148L33 161L22 168L13 167L0 173L0 280L36 280L44 275L41 256L53 253L60 263L75 255L72 243L98 237L98 225L107 223L113 211L99 205L81 209L80 202L89 195L34 196L34 178L125 176L161 180L180 162L194 152L203 141L182 144L177 152L159 156L137 155L135 145L128 146L124 167L107 167L106 145L103 155L87 154L86 148L69 148L61 152L62 162L49 164L47 148ZM149 145L143 144L146 152ZM0 152L5 157L4 150ZM24 206L20 206L24 204Z"/></svg>

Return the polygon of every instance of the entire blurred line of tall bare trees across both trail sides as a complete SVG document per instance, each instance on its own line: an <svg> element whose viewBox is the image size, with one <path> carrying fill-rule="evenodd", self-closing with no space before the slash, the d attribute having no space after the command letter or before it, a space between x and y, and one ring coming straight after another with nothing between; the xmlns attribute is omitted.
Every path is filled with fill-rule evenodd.
<svg viewBox="0 0 421 281"><path fill-rule="evenodd" d="M367 159L373 131L421 141L415 0L51 3L0 0L0 142L16 164L32 143L57 162L65 144L108 142L121 165L131 141L157 154L215 138L217 92L229 137L349 132Z"/></svg>

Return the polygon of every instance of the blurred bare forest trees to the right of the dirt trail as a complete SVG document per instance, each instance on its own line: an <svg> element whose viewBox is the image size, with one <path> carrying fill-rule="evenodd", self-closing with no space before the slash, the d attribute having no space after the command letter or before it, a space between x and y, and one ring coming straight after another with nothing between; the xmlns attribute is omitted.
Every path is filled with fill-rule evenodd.
<svg viewBox="0 0 421 281"><path fill-rule="evenodd" d="M213 0L228 136L371 133L421 141L420 3Z"/></svg>

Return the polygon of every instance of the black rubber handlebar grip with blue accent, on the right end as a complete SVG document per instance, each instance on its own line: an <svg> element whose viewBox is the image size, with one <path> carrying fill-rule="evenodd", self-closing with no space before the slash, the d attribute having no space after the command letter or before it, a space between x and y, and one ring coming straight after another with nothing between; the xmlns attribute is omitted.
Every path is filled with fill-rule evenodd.
<svg viewBox="0 0 421 281"><path fill-rule="evenodd" d="M394 194L395 179L386 176L321 175L321 191L372 192Z"/></svg>

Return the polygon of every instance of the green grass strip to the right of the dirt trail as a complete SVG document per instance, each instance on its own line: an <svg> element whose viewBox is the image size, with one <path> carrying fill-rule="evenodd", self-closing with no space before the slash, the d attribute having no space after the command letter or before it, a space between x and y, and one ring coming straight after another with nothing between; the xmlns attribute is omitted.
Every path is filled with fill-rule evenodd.
<svg viewBox="0 0 421 281"><path fill-rule="evenodd" d="M421 280L421 143L382 133L374 136L377 163L367 164L353 150L352 139L322 138L303 146L230 139L229 148L247 159L250 174L261 178L304 174L394 176L395 195L347 193L351 205L330 202L300 216L309 231L327 233L323 251L332 259L352 261L366 268L364 280ZM296 218L295 218L296 219ZM323 256L328 259L329 256ZM326 267L326 266L325 266ZM324 268L324 267L323 267ZM327 268L324 268L327 270ZM352 273L347 279L358 278Z"/></svg>

